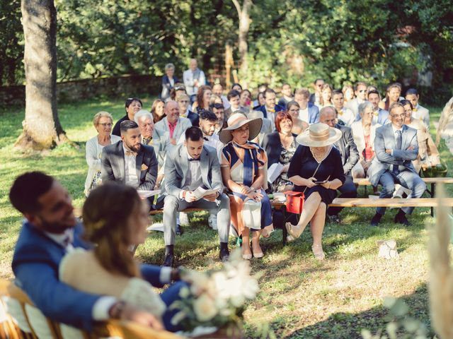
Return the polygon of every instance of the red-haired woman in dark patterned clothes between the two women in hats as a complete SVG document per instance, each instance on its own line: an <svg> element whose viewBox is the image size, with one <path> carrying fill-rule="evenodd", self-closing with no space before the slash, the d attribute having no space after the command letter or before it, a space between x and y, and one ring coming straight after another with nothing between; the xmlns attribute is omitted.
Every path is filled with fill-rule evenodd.
<svg viewBox="0 0 453 339"><path fill-rule="evenodd" d="M271 183L270 191L284 192L292 190L292 182L287 177L289 162L296 152L297 134L292 133L292 117L285 111L277 113L275 118L276 132L265 136L263 148L268 155L268 168L276 163L283 165L282 173Z"/></svg>

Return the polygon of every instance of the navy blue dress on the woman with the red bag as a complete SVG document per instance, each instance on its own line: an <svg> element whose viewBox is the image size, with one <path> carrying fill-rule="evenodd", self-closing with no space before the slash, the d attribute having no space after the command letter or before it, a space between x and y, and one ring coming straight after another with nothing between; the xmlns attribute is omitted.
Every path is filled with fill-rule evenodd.
<svg viewBox="0 0 453 339"><path fill-rule="evenodd" d="M340 181L344 184L345 174L343 172L341 155L335 147L331 148L330 153L321 162L316 174L314 174L316 167L318 167L318 162L311 154L310 148L299 145L296 153L294 153L292 157L291 163L289 164L287 177L290 178L294 177L294 175L299 175L304 179L315 177L316 180L323 181L328 179L330 182L333 179L340 179ZM326 203L326 205L331 203L337 196L336 189L326 189L321 185L316 185L311 188L294 185L294 191L303 192L304 190L305 200L310 196L310 194L318 192L321 196L321 201Z"/></svg>

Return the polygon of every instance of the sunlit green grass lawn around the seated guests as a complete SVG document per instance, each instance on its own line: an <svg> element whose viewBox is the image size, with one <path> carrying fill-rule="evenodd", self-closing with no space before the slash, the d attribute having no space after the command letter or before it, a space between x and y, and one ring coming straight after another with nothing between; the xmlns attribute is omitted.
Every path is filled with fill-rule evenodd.
<svg viewBox="0 0 453 339"><path fill-rule="evenodd" d="M106 110L115 119L124 114L123 100L91 100L79 104L61 105L59 117L72 141L79 149L62 145L45 154L23 155L13 148L21 132L23 109L0 112L0 274L12 278L11 257L21 215L11 207L8 190L13 179L28 170L51 174L69 189L74 205L84 201L84 180L87 172L84 145L96 135L91 124L93 115ZM151 98L144 100L149 108ZM440 108L431 109L431 120L437 121ZM434 128L432 126L432 132ZM452 155L442 141L442 159L452 164ZM450 165L451 167L451 165ZM452 176L452 172L449 172ZM448 189L451 196L452 189ZM364 194L360 188L360 194ZM389 209L382 225L369 227L374 215L372 208L348 208L341 213L339 225L327 224L324 249L327 260L315 261L311 254L311 234L307 229L297 241L283 247L282 231L263 239L263 259L253 259L253 272L263 273L261 292L245 312L248 338L260 338L270 328L276 338L360 338L360 330L373 333L384 329L390 320L383 307L384 297L406 299L411 316L423 321L431 336L428 310L427 225L433 222L428 208L417 208L411 217L411 227L392 223L396 210ZM159 217L156 217L159 218ZM190 215L190 226L177 238L178 265L205 270L217 268L217 232L207 226L207 215ZM379 239L396 239L399 258L377 258ZM231 247L234 239L231 239ZM139 246L137 256L147 263L161 264L164 258L164 239L161 232L149 234Z"/></svg>

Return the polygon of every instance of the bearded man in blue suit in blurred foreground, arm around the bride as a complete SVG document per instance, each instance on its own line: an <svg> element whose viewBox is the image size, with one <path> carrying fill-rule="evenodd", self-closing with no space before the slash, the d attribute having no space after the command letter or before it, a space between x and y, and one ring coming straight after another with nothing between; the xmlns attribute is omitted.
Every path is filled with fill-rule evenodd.
<svg viewBox="0 0 453 339"><path fill-rule="evenodd" d="M16 179L9 198L27 219L23 223L12 268L16 284L50 319L91 330L94 321L127 319L161 329L152 314L140 311L115 297L91 295L74 290L59 281L59 263L74 247L88 248L81 240L83 226L76 222L71 198L59 182L42 172L28 172ZM143 265L142 276L155 287L163 287L178 278L171 268ZM168 288L161 298L167 304L178 299L183 283ZM164 314L164 325L170 331L175 311Z"/></svg>

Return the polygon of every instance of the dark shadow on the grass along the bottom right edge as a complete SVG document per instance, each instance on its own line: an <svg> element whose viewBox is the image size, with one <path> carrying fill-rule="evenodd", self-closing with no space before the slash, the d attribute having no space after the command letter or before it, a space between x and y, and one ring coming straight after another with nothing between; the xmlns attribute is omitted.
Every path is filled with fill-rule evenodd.
<svg viewBox="0 0 453 339"><path fill-rule="evenodd" d="M427 285L420 285L413 294L403 296L401 299L408 304L408 316L424 321L426 328L428 328L428 338L432 338L435 333L432 332L430 324ZM270 322L270 328L275 332L277 338L358 339L362 338L362 335L360 334L362 329L368 329L372 333L377 333L377 331L380 330L382 331L382 335L386 334L386 323L394 321L395 319L389 314L388 309L378 306L358 313L338 312L336 314L331 314L326 320L319 321L318 323L303 328L294 329L292 324L300 320L299 317L295 317L294 319L281 319L277 316ZM289 334L288 328L292 328ZM255 338L253 336L252 328L249 328L248 332L250 335L248 338Z"/></svg>

